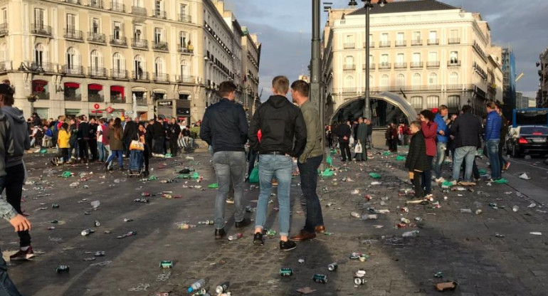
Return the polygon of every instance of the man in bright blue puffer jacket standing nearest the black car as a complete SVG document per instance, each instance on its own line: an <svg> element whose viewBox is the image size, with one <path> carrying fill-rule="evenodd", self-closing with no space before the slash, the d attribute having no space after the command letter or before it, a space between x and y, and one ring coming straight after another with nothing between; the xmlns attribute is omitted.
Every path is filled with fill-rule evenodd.
<svg viewBox="0 0 548 296"><path fill-rule="evenodd" d="M499 159L500 130L502 129L502 118L497 113L495 102L488 102L485 105L487 109L487 121L485 122L485 145L491 164L491 179L501 178L501 168Z"/></svg>

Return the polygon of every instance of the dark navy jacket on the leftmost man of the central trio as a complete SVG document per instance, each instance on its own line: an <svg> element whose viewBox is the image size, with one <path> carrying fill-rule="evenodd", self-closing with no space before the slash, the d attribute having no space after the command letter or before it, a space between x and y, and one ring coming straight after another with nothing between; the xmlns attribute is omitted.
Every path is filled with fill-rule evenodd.
<svg viewBox="0 0 548 296"><path fill-rule="evenodd" d="M242 105L224 98L206 109L201 120L200 138L213 146L213 151L245 152L248 120Z"/></svg>

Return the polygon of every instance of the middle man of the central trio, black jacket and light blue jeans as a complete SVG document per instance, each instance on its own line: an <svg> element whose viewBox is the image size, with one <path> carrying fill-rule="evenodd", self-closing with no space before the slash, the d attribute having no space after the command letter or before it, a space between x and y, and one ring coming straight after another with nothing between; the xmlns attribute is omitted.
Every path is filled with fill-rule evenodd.
<svg viewBox="0 0 548 296"><path fill-rule="evenodd" d="M272 178L278 180L278 203L280 204L280 250L293 250L297 247L289 240L290 184L293 160L299 157L306 145L306 124L299 107L291 104L285 95L289 90L289 80L277 76L272 81L273 96L261 104L249 129L249 144L259 152L260 195L255 212L254 245L263 245L263 229ZM258 139L258 131L262 136ZM295 139L295 144L293 144Z"/></svg>

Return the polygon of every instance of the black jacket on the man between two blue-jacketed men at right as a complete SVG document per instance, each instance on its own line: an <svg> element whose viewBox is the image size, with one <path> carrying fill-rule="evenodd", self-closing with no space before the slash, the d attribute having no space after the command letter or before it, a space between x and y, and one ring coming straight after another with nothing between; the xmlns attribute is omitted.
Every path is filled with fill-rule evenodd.
<svg viewBox="0 0 548 296"><path fill-rule="evenodd" d="M480 119L470 113L460 115L451 126L451 134L455 136L455 148L480 147L482 134Z"/></svg>

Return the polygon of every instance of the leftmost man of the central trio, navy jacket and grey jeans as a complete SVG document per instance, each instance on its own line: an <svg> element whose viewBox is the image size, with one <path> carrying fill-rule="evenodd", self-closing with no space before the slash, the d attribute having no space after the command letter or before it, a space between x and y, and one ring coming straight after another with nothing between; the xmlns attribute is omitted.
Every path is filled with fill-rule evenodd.
<svg viewBox="0 0 548 296"><path fill-rule="evenodd" d="M245 218L243 206L243 179L246 174L246 148L248 121L242 105L234 102L236 85L225 81L219 85L223 99L206 109L200 128L200 138L213 147L213 164L218 191L215 199L215 239L226 235L224 231L226 197L230 184L234 188L234 221L236 228L251 224Z"/></svg>

